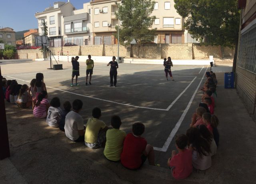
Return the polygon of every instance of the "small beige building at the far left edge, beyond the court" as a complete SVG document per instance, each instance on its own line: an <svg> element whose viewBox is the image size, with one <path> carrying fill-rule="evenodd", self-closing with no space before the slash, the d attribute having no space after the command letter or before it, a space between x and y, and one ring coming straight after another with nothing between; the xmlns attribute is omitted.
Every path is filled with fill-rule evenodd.
<svg viewBox="0 0 256 184"><path fill-rule="evenodd" d="M16 46L15 31L8 27L0 29L0 40L3 40L6 45Z"/></svg>

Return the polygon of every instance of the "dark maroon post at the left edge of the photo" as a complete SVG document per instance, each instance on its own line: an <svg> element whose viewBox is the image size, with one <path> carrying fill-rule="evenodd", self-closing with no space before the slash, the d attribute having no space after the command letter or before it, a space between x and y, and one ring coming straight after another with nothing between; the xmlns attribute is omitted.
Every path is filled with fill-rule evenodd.
<svg viewBox="0 0 256 184"><path fill-rule="evenodd" d="M2 73L0 66L0 160L10 157L9 138L4 104L4 92L2 90Z"/></svg>

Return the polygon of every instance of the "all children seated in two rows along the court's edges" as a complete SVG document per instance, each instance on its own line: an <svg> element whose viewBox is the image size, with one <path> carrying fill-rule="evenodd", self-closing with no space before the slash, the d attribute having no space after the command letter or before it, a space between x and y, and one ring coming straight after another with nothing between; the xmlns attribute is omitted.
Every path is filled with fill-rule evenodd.
<svg viewBox="0 0 256 184"><path fill-rule="evenodd" d="M212 76L215 76L212 77ZM216 75L206 72L207 80L202 87L204 95L202 102L192 115L190 128L186 135L176 136L176 151L168 159L168 166L172 170L172 176L179 180L187 178L193 170L206 170L211 167L211 156L216 154L219 144L218 118L214 115L216 102ZM88 119L86 127L79 112L83 103L76 99L71 104L65 101L64 110L60 108L60 99L52 98L48 101L46 86L42 73L36 74L30 87L20 85L13 81L6 81L6 100L16 103L20 108L32 105L33 115L36 118L46 118L50 127L59 127L65 132L67 138L74 142L84 142L88 148L104 148L104 156L113 162L121 162L128 169L136 170L148 159L150 165L156 165L154 160L154 148L147 144L141 137L145 131L143 123L132 125L132 132L126 133L120 130L121 119L117 115L111 117L111 126L108 127L100 120L101 110L95 107L92 117ZM215 81L215 82L214 82ZM30 91L32 95L30 95ZM16 97L15 97L16 96Z"/></svg>

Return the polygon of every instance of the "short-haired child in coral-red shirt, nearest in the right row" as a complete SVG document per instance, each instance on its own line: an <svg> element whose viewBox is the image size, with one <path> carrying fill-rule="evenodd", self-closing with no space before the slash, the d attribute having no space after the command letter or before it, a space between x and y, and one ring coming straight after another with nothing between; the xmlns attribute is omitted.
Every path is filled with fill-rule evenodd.
<svg viewBox="0 0 256 184"><path fill-rule="evenodd" d="M176 180L187 178L192 170L192 150L186 148L188 145L188 137L186 135L179 135L175 139L176 148L172 151L172 157L168 159L168 166L172 170L172 176Z"/></svg>

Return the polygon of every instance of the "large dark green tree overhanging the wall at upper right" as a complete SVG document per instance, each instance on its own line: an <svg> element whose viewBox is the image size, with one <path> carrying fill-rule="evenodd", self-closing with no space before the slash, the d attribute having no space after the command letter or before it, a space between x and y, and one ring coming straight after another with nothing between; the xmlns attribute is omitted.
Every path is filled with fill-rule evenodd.
<svg viewBox="0 0 256 184"><path fill-rule="evenodd" d="M174 0L178 14L188 17L184 27L203 44L235 47L236 69L240 11L237 0Z"/></svg>

